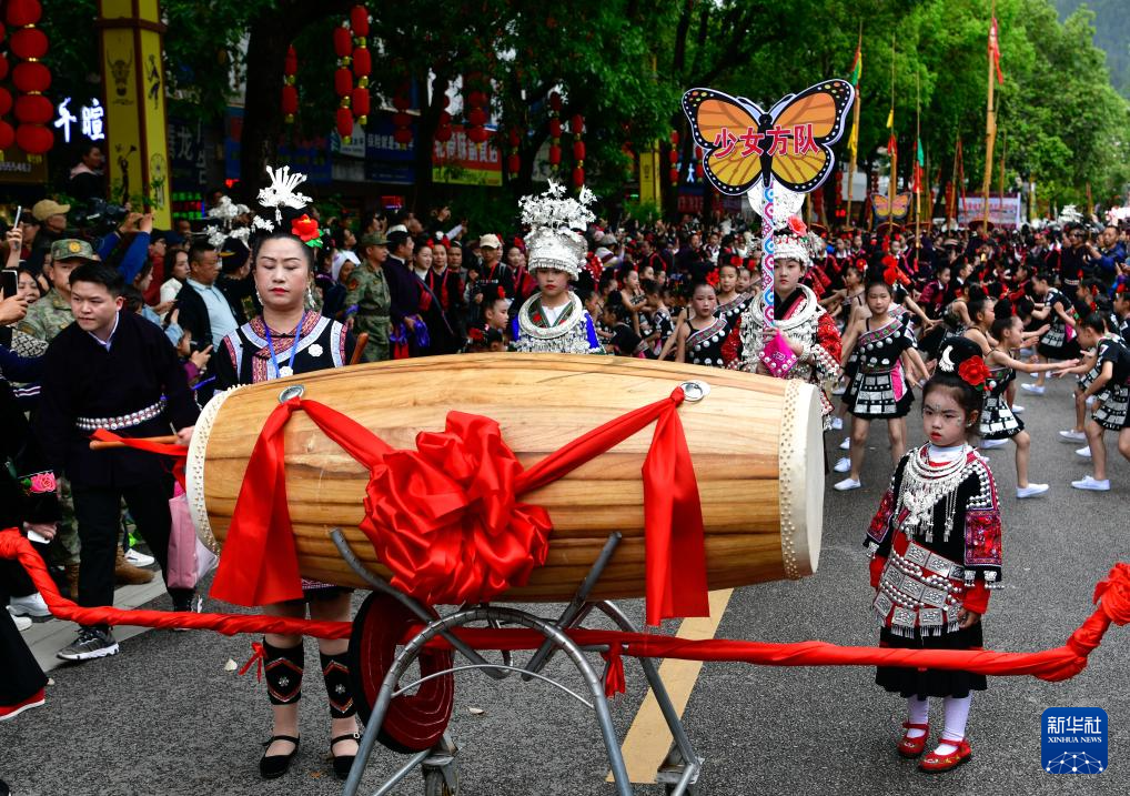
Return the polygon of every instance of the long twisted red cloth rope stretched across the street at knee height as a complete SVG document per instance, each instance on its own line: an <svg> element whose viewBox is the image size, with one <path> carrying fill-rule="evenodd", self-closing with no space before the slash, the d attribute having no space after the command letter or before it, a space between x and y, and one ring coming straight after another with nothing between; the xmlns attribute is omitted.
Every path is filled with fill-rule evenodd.
<svg viewBox="0 0 1130 796"><path fill-rule="evenodd" d="M190 628L214 630L225 635L236 633L281 633L313 635L322 639L347 639L353 625L348 622L314 622L279 616L246 614L195 614L165 611L121 611L119 608L80 608L59 596L54 581L32 543L15 528L0 531L0 559L18 560L27 570L35 588L43 595L51 613L80 624L133 624L146 628ZM1062 647L1040 652L993 652L990 650L893 649L877 647L840 647L825 641L767 643L710 639L687 641L669 635L625 633L609 630L568 630L566 633L582 647L608 646L636 658L678 658L681 660L716 660L757 664L760 666L909 666L916 668L964 669L985 675L1032 675L1049 682L1068 680L1083 672L1087 656L1103 640L1111 624L1130 623L1130 565L1118 563L1105 580L1095 586L1094 613ZM414 625L405 632L405 641L421 630ZM475 649L532 650L545 641L537 631L520 628L460 628L454 632ZM428 646L445 647L443 639ZM609 652L609 663L617 657ZM623 666L620 667L623 669ZM609 673L606 690L615 686L616 673Z"/></svg>

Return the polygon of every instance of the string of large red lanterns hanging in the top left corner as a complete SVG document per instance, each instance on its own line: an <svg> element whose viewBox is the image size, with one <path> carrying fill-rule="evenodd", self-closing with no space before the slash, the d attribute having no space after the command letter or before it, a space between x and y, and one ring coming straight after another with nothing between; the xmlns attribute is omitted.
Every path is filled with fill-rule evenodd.
<svg viewBox="0 0 1130 796"><path fill-rule="evenodd" d="M19 92L15 102L16 121L19 123L15 141L33 158L50 150L55 141L54 133L46 127L54 115L54 107L44 96L51 87L51 70L41 61L47 53L49 41L46 34L35 26L42 15L40 0L8 1L6 20L14 31L9 46L12 55L20 59L11 70L12 85ZM5 71L7 66L5 61ZM10 104L11 96L7 100ZM3 104L3 98L0 98L0 106ZM5 132L0 130L0 138L3 137Z"/></svg>

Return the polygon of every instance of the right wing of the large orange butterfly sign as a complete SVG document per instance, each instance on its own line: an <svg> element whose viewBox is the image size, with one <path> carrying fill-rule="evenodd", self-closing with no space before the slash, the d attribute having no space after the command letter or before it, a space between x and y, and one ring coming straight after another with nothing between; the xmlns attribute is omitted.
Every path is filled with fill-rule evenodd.
<svg viewBox="0 0 1130 796"><path fill-rule="evenodd" d="M771 111L774 127L793 130L811 126L814 152L796 155L796 141L791 141L788 156L773 158L773 176L790 190L808 193L824 182L835 166L832 145L840 140L844 131L847 109L855 97L855 90L846 80L825 80L800 94L789 97Z"/></svg>

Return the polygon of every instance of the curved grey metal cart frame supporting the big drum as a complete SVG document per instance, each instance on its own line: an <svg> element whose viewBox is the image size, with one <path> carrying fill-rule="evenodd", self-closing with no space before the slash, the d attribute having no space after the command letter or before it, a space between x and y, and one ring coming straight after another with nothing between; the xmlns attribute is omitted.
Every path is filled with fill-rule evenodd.
<svg viewBox="0 0 1130 796"><path fill-rule="evenodd" d="M479 670L499 681L511 677L514 674L520 675L523 681L537 678L557 687L592 709L597 715L597 724L600 727L600 733L605 742L605 751L608 754L616 794L617 796L632 795L632 782L628 780L624 754L620 751L619 739L612 725L611 710L608 706L608 699L605 695L605 678L601 674L598 674L592 663L585 657L586 652L608 652L609 648L607 644L580 646L566 634L567 630L579 628L594 611L610 618L621 631L638 632L633 622L614 603L589 599L589 595L600 580L605 568L608 565L612 553L620 542L620 534L614 533L608 537L600 555L593 562L592 568L573 595L572 600L570 600L565 609L556 618L538 616L528 611L490 604L461 606L454 613L437 618L426 605L397 589L383 577L365 566L349 547L349 543L340 529L333 529L330 533L330 538L350 569L368 583L375 594L395 599L424 624L424 628L397 651L392 665L384 675L376 702L372 706L368 720L365 721L365 732L362 734L360 749L346 780L345 796L357 796L359 793L362 778L365 775L365 769L368 767L370 758L377 743L381 725L384 721L392 700L428 680L469 670ZM546 638L540 648L527 661L525 666L515 666L511 655L506 651L502 654L501 664L492 663L452 632L458 628L477 623L486 623L488 626L494 628L516 625L537 631ZM452 666L441 672L434 672L412 683L400 685L401 676L417 659L425 646L435 638L444 639L468 663ZM588 699L556 680L541 674L546 664L549 663L549 659L558 650L564 652L581 673L584 684L589 690ZM671 749L657 772L655 779L664 786L666 793L669 796L694 794L694 786L698 780L703 760L695 753L690 738L683 727L679 713L671 703L670 695L667 693L663 681L659 676L655 663L651 658L640 658L640 665L643 668L647 685L655 696L660 712L673 738ZM355 698L358 696L362 695L355 695ZM417 767L424 773L425 796L458 796L458 747L449 733L444 732L443 738L438 744L432 749L412 754L406 763L389 777L373 796L386 796Z"/></svg>

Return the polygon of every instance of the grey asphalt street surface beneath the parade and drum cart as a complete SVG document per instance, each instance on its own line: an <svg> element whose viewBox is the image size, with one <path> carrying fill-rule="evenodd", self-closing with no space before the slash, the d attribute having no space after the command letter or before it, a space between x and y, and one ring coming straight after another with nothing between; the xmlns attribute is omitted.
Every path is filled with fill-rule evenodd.
<svg viewBox="0 0 1130 796"><path fill-rule="evenodd" d="M1048 395L1019 393L1034 439L1033 479L1050 482L1043 498L1015 499L1012 447L988 453L1006 520L1005 580L985 618L986 646L1040 650L1063 643L1090 611L1092 589L1111 565L1130 560L1130 466L1112 461L1113 491L1080 493L1069 482L1088 468L1059 441L1071 413L1070 384L1050 381ZM909 418L921 438L918 406ZM842 432L828 438L831 458ZM1113 451L1113 441L1109 441ZM822 639L872 644L863 529L887 483L886 433L872 431L864 488L825 503L819 572L799 583L767 583L732 595L718 635L765 641ZM832 474L829 479L836 478ZM167 598L154 607L167 607ZM216 607L216 606L212 606ZM636 618L642 605L626 607ZM36 629L41 634L42 629ZM666 629L676 630L676 623ZM250 639L214 633L145 632L113 658L56 668L47 704L0 725L0 776L20 796L167 794L270 796L338 794L325 760L329 723L320 677L307 676L302 701L303 746L289 776L258 777L260 742L269 735L263 685L225 669L249 657ZM705 758L699 791L707 794L1124 794L1130 789L1130 628L1112 628L1088 668L1066 683L991 678L970 719L972 761L940 778L901 760L895 743L904 703L872 684L863 668L755 668L707 664L686 708L686 725ZM316 673L307 643L307 672ZM638 667L627 661L628 692L614 703L623 737L645 695ZM555 659L547 674L580 685ZM452 732L461 746L462 793L611 794L607 762L591 715L539 683L457 677ZM1048 707L1097 706L1110 717L1110 769L1080 780L1041 770L1040 719ZM477 713L471 709L481 709ZM940 726L940 704L933 719ZM645 728L646 729L646 728ZM642 732L642 730L637 730ZM654 744L653 744L654 745ZM380 751L368 793L401 762ZM397 794L423 793L414 776ZM638 794L661 794L637 785Z"/></svg>

